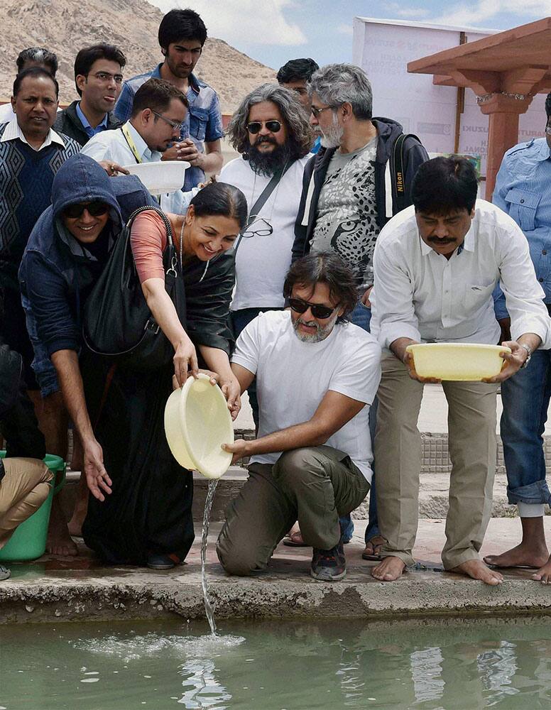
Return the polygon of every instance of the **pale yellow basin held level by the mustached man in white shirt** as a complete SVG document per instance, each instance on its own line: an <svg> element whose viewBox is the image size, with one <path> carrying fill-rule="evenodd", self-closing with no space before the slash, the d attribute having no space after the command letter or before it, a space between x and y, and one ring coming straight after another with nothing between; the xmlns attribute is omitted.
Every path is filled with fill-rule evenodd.
<svg viewBox="0 0 551 710"><path fill-rule="evenodd" d="M501 345L475 343L423 343L408 345L406 350L413 354L415 372L420 377L454 381L495 377L504 362L499 354L511 352Z"/></svg>

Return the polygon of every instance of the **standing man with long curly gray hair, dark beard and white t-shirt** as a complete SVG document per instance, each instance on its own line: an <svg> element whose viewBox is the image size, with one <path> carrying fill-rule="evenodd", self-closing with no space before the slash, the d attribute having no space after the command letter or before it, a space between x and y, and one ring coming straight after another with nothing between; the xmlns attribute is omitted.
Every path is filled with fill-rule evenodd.
<svg viewBox="0 0 551 710"><path fill-rule="evenodd" d="M228 136L241 158L224 166L220 180L239 187L249 205L249 222L235 247L231 321L237 337L259 313L285 305L283 282L312 133L296 94L263 84L243 99ZM258 427L254 388L252 383L249 400Z"/></svg>

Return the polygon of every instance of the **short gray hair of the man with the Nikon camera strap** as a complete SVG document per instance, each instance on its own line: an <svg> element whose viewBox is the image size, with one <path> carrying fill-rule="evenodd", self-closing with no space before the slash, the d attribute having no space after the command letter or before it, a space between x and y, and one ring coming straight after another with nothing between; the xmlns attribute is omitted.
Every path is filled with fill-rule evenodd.
<svg viewBox="0 0 551 710"><path fill-rule="evenodd" d="M366 121L373 116L373 92L366 72L354 64L327 64L312 74L308 95L317 94L331 107L351 104L356 119Z"/></svg>

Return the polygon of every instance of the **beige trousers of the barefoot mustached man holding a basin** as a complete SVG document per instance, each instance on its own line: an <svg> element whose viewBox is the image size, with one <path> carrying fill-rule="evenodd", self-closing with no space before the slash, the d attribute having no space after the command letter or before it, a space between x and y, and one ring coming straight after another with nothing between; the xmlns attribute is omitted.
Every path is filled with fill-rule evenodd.
<svg viewBox="0 0 551 710"><path fill-rule="evenodd" d="M417 428L423 383L393 355L384 355L378 389L375 461L381 555L413 564L419 516L421 439ZM442 382L448 403L449 512L442 562L446 569L479 559L491 516L496 472L496 393L485 382Z"/></svg>

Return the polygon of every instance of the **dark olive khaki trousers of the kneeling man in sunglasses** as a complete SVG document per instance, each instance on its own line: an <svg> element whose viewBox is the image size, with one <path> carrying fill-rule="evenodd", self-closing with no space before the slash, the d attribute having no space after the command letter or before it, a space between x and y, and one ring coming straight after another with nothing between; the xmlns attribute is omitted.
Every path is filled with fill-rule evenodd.
<svg viewBox="0 0 551 710"><path fill-rule="evenodd" d="M357 508L368 491L350 457L329 446L293 449L273 466L251 464L249 479L226 508L218 559L229 574L266 569L295 520L307 545L329 550L341 536L339 516Z"/></svg>

